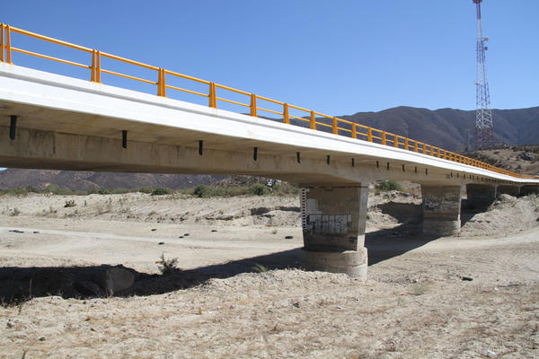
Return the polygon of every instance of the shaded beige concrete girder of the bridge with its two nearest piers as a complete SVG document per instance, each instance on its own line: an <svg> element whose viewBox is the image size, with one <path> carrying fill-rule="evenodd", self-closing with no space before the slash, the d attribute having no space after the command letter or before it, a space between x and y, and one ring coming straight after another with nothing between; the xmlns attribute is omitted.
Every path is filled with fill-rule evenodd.
<svg viewBox="0 0 539 359"><path fill-rule="evenodd" d="M17 127L0 127L0 163L8 167L79 171L256 174L298 183L302 189L304 265L307 268L367 277L364 246L368 185L393 174L392 166L375 163L328 162L321 159L227 152L175 144L152 144L120 138L82 136ZM192 141L191 141L192 142ZM397 166L399 175L423 184L425 232L439 235L460 228L461 186L440 187L436 176ZM406 167L405 167L406 169ZM451 189L450 196L447 188Z"/></svg>

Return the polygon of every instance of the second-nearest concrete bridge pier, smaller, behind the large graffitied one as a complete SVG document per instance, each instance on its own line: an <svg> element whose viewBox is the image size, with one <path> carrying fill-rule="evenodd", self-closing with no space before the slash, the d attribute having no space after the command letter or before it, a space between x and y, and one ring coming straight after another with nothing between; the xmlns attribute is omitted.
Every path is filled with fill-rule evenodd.
<svg viewBox="0 0 539 359"><path fill-rule="evenodd" d="M461 186L421 185L423 233L446 236L460 232Z"/></svg>

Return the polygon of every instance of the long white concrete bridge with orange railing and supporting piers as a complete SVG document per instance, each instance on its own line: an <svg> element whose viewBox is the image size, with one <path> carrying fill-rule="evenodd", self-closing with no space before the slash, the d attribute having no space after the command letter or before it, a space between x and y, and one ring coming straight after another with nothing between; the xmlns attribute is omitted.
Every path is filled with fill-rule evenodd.
<svg viewBox="0 0 539 359"><path fill-rule="evenodd" d="M460 230L464 192L481 207L499 193L539 189L537 177L411 138L9 25L0 28L0 166L246 174L295 182L301 188L304 266L310 269L367 276L364 240L373 181L419 183L423 232L438 236ZM18 48L13 34L74 49L87 56L87 64ZM88 76L17 66L15 54L82 68ZM142 68L154 78L112 71L103 59ZM111 86L104 75L145 83L155 93ZM173 84L177 80L195 87ZM171 92L208 105L175 99ZM224 104L243 110L221 109Z"/></svg>

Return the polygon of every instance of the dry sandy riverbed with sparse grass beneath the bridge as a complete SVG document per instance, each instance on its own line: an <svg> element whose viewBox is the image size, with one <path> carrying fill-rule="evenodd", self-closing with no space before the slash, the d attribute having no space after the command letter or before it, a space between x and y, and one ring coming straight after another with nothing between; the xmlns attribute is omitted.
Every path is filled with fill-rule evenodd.
<svg viewBox="0 0 539 359"><path fill-rule="evenodd" d="M137 273L129 296L4 298L0 357L539 357L539 198L445 238L420 234L417 196L369 207L364 283L301 269L296 197L0 197L0 293L13 271Z"/></svg>

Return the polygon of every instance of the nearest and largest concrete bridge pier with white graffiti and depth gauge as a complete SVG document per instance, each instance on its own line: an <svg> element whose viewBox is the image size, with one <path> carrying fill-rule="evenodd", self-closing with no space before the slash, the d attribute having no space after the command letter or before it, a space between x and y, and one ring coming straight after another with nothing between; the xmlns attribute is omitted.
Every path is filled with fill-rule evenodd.
<svg viewBox="0 0 539 359"><path fill-rule="evenodd" d="M367 279L367 187L302 188L306 269Z"/></svg>

